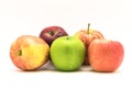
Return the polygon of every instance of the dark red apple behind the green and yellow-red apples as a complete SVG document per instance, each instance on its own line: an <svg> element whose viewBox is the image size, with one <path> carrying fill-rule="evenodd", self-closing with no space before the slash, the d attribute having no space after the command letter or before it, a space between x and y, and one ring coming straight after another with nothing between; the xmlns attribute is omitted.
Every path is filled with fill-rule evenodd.
<svg viewBox="0 0 132 90"><path fill-rule="evenodd" d="M43 38L50 46L57 37L67 35L67 32L61 26L47 26L40 33L40 37Z"/></svg>

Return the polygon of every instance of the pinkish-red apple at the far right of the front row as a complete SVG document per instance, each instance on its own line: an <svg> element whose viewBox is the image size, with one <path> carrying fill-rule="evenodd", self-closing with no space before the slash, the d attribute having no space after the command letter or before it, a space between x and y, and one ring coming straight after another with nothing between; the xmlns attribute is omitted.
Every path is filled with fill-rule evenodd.
<svg viewBox="0 0 132 90"><path fill-rule="evenodd" d="M88 48L89 61L94 70L112 72L123 61L123 45L118 41L95 40Z"/></svg>

